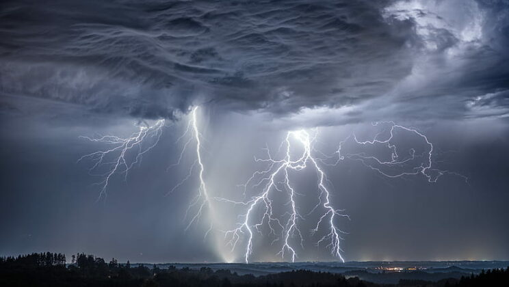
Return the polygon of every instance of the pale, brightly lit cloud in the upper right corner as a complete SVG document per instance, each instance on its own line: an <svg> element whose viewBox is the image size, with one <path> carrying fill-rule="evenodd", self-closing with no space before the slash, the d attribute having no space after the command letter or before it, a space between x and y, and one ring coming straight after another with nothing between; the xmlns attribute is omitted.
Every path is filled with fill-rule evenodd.
<svg viewBox="0 0 509 287"><path fill-rule="evenodd" d="M425 117L452 119L508 115L507 2L396 1L384 16L411 21L415 30L413 71L391 91L403 111L426 107ZM500 100L491 109L471 105L492 94Z"/></svg>

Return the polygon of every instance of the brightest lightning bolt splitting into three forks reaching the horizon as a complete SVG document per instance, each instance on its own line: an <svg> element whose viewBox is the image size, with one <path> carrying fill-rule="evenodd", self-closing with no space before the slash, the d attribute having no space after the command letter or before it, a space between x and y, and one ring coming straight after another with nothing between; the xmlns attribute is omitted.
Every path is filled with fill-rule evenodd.
<svg viewBox="0 0 509 287"><path fill-rule="evenodd" d="M296 191L291 187L289 180L289 172L290 171L301 171L302 169L306 169L306 167L312 167L317 172L317 189L319 190L319 202L311 210L313 213L319 206L324 208L324 213L319 220L317 221L315 229L311 232L314 234L319 230L321 226L326 226L328 228L328 233L317 241L317 245L324 241L328 241L327 247L330 247L331 253L334 256L337 256L344 262L343 257L341 256L341 247L340 241L342 239L341 234L345 233L341 231L337 227L337 219L339 217L348 217L348 215L343 215L341 212L343 210L338 210L334 208L330 202L330 191L326 187L326 174L319 167L317 163L317 159L313 157L312 151L313 143L315 142L317 133L315 133L314 137L311 137L308 132L304 130L300 131L290 131L287 133L285 137L285 141L283 141L282 146L286 146L285 157L280 160L276 160L272 158L270 154L270 150L265 148L267 151L267 159L257 159L255 161L258 162L267 162L267 169L261 172L254 172L252 176L248 179L246 184L243 184L244 189L249 185L253 187L260 187L263 184L263 188L261 190L261 194L258 196L252 197L251 200L247 202L235 202L233 200L227 200L222 197L216 197L215 199L222 202L230 202L233 204L239 204L242 206L247 206L246 213L240 215L239 218L242 218L243 221L237 223L237 227L233 230L224 231L224 236L227 238L227 245L231 245L232 250L235 249L238 241L242 237L242 234L247 234L247 245L246 251L244 254L244 260L246 263L249 262L249 257L252 254L252 244L254 238L254 230L261 233L259 228L267 223L268 228L270 229L270 233L276 235L276 228L278 229L278 234L280 233L280 239L283 241L281 245L281 249L278 252L285 258L285 253L289 253L291 256L291 261L295 262L298 254L296 251L296 247L292 245L291 238L297 237L300 239L300 245L302 245L302 233L298 227L298 221L300 219L304 219L302 215L298 212L297 202L296 202ZM293 159L291 156L292 153L292 145L291 139L295 139L302 145L302 154L297 158ZM283 176L283 181L278 182L276 178L278 176ZM257 180L257 182L254 182ZM273 201L272 201L272 193L273 191L287 191L289 197L289 206L291 206L290 210L287 212L289 218L283 224L280 219L274 217L273 213ZM261 206L263 211L263 216L256 223L251 222L252 217L254 217L255 208L257 206ZM229 239L228 239L229 238ZM278 241L278 239L274 240L274 242Z"/></svg>

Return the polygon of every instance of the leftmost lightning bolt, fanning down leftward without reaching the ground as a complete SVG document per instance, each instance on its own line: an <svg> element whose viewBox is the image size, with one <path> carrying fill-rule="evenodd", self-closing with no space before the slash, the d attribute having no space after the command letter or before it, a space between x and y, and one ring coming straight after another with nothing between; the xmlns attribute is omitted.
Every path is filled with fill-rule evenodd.
<svg viewBox="0 0 509 287"><path fill-rule="evenodd" d="M159 139L161 139L164 124L165 120L157 120L152 126L139 126L138 132L126 138L113 135L105 135L103 137L80 136L80 138L87 139L88 141L106 143L112 146L112 148L107 150L85 154L78 159L78 162L84 159L90 159L90 161L94 163L92 167L89 168L90 174L103 178L101 182L96 183L101 187L97 200L106 197L109 181L114 174L124 174L125 180L127 180L129 170L131 170L135 164L141 163L143 155L149 150L152 150L159 142ZM144 142L148 139L152 139L153 143L147 146ZM105 169L105 172L103 169ZM101 174L94 174L94 172L100 172L101 170L103 171Z"/></svg>

